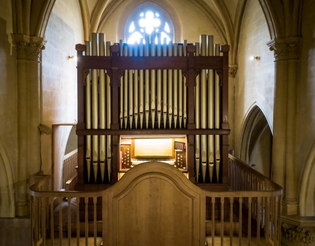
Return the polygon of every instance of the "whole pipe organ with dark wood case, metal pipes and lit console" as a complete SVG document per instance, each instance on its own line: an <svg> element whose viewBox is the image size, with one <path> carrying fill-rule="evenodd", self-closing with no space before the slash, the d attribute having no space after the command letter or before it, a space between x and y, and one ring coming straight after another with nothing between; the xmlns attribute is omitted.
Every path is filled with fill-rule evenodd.
<svg viewBox="0 0 315 246"><path fill-rule="evenodd" d="M115 183L147 161L228 183L228 45L161 34L112 45L92 33L76 49L79 184Z"/></svg>

